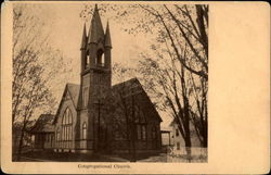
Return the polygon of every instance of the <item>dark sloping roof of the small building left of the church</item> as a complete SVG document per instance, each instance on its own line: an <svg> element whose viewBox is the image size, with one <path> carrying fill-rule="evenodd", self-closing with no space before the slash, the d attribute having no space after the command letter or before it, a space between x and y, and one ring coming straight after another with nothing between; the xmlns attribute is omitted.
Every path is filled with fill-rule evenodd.
<svg viewBox="0 0 271 175"><path fill-rule="evenodd" d="M41 114L35 125L28 130L29 133L53 133L54 126L53 114Z"/></svg>

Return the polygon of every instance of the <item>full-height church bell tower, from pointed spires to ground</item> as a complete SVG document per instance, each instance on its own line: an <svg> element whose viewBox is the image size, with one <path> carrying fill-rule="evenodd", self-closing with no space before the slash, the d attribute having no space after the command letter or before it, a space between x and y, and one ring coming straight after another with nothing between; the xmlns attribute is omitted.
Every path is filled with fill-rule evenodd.
<svg viewBox="0 0 271 175"><path fill-rule="evenodd" d="M87 123L87 138L80 140L80 148L94 150L96 141L96 103L112 87L112 40L107 22L104 32L98 7L95 5L89 32L83 26L81 40L81 73L78 113L80 128ZM100 110L99 110L100 113ZM81 138L81 136L80 136Z"/></svg>

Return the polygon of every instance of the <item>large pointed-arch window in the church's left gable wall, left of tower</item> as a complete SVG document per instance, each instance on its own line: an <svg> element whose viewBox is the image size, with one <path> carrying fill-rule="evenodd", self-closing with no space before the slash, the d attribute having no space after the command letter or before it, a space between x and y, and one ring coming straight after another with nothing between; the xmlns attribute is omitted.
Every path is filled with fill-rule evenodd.
<svg viewBox="0 0 271 175"><path fill-rule="evenodd" d="M73 138L73 115L67 108L62 120L62 140L67 141Z"/></svg>

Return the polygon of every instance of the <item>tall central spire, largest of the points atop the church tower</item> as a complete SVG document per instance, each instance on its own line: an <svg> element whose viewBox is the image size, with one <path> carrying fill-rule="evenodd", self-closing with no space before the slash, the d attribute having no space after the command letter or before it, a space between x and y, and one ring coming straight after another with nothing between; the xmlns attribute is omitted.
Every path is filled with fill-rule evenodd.
<svg viewBox="0 0 271 175"><path fill-rule="evenodd" d="M89 43L98 42L100 38L104 38L104 30L102 21L99 14L98 5L95 4L93 16L91 20L91 26L89 28Z"/></svg>

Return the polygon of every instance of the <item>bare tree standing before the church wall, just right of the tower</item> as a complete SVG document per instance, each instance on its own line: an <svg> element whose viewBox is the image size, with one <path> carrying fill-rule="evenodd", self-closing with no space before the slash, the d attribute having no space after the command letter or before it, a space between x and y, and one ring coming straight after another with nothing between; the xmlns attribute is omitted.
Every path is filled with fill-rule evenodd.
<svg viewBox="0 0 271 175"><path fill-rule="evenodd" d="M131 76L132 68L124 67L119 64L113 65L113 75L116 82L120 82ZM133 91L136 86L134 80L122 82L116 85L111 91L111 99L107 107L109 112L113 113L112 122L114 123L114 133L117 134L119 138L126 139L128 142L128 151L130 154L130 161L137 161L137 148L136 148L136 124L134 124L134 108L137 103L137 91ZM116 110L118 109L118 110ZM124 117L119 117L124 116Z"/></svg>

